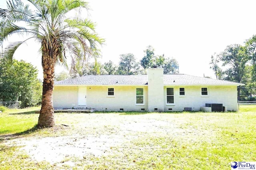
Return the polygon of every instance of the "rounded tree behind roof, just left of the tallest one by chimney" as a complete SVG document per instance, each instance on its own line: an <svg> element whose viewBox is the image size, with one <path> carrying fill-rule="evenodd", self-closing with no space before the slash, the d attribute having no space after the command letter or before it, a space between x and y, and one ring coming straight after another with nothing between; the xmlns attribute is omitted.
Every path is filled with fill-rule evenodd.
<svg viewBox="0 0 256 170"><path fill-rule="evenodd" d="M133 54L121 54L119 67L117 70L118 74L132 75L138 74L140 70L140 64L136 62Z"/></svg>

